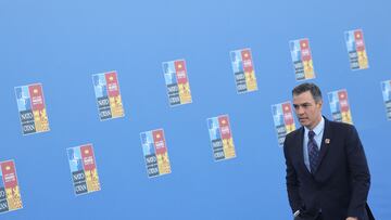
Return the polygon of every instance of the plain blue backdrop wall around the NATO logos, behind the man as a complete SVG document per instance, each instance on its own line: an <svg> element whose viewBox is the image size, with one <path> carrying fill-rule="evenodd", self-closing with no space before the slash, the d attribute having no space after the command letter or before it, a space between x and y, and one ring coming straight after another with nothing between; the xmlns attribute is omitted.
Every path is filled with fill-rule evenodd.
<svg viewBox="0 0 391 220"><path fill-rule="evenodd" d="M0 2L0 161L23 209L0 219L290 219L272 104L298 85L289 40L308 38L316 82L346 89L371 171L368 202L391 218L389 1ZM352 72L345 30L369 68ZM229 51L251 48L258 90L237 94ZM162 62L187 61L193 102L169 107ZM117 70L126 116L98 118L91 75ZM51 130L22 135L14 87L41 82ZM237 157L215 163L206 118L228 114ZM331 118L325 95L324 115ZM297 124L298 125L298 124ZM149 179L139 133L165 130L172 173ZM75 196L66 148L92 143L102 190Z"/></svg>

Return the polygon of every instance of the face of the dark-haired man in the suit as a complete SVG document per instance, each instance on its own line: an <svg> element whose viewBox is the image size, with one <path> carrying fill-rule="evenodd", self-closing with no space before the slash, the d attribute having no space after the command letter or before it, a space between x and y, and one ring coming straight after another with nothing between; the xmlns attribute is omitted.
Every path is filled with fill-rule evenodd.
<svg viewBox="0 0 391 220"><path fill-rule="evenodd" d="M321 120L321 101L315 102L310 91L293 95L293 107L300 124L310 130Z"/></svg>

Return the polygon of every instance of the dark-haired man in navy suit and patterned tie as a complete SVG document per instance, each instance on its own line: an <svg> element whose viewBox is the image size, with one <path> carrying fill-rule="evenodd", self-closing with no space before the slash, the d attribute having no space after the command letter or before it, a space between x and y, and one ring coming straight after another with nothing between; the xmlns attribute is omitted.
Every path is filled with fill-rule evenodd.
<svg viewBox="0 0 391 220"><path fill-rule="evenodd" d="M316 85L299 85L292 95L302 127L287 134L283 153L294 219L374 219L366 203L370 174L356 129L321 116Z"/></svg>

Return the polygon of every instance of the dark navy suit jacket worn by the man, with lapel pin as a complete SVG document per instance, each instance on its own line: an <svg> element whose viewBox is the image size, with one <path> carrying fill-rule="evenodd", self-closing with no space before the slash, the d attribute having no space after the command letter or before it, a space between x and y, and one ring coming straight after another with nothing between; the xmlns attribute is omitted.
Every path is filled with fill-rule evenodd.
<svg viewBox="0 0 391 220"><path fill-rule="evenodd" d="M325 220L345 220L346 217L369 220L366 200L370 174L356 129L325 118L315 173L304 165L303 138L301 127L287 134L283 143L292 211L301 210L308 219L321 211Z"/></svg>

